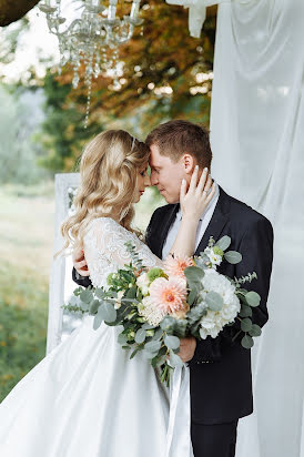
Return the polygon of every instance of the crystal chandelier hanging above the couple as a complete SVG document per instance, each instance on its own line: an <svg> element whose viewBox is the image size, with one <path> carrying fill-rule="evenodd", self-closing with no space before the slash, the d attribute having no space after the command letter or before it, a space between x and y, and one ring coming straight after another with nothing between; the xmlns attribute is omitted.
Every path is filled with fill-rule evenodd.
<svg viewBox="0 0 304 457"><path fill-rule="evenodd" d="M68 62L73 67L73 88L79 84L79 69L84 65L84 82L88 87L88 103L84 126L88 125L91 100L92 78L98 78L102 71L113 70L118 64L118 48L133 35L134 28L142 26L139 18L140 1L133 0L130 16L123 19L116 17L118 0L109 1L108 7L101 0L79 0L78 10L81 16L64 28L65 18L61 11L64 0L44 0L39 4L47 14L47 22L51 33L59 40L60 67ZM109 58L110 53L110 58Z"/></svg>

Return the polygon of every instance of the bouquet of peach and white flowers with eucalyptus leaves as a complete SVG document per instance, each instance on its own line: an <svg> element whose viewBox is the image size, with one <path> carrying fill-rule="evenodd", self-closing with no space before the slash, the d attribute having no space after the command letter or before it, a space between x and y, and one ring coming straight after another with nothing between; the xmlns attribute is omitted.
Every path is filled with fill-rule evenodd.
<svg viewBox="0 0 304 457"><path fill-rule="evenodd" d="M250 318L261 297L242 287L256 274L232 280L216 271L223 258L232 264L242 261L239 252L226 252L230 244L229 236L216 243L211 237L200 256L168 257L163 268L146 268L128 242L132 262L108 276L109 287L78 287L73 301L62 307L93 315L94 329L102 322L121 326L118 343L131 351L130 358L143 351L169 385L171 370L183 364L178 354L180 338L215 338L235 319L241 321L241 331L234 338L244 333L243 347L251 348L253 336L261 335Z"/></svg>

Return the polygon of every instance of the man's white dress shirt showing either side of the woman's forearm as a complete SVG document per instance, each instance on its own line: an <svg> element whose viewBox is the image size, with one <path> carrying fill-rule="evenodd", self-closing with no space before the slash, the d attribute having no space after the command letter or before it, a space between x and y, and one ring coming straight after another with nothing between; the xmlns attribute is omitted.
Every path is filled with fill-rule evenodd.
<svg viewBox="0 0 304 457"><path fill-rule="evenodd" d="M205 230L206 230L206 227L207 227L207 225L211 221L211 217L214 213L214 210L215 210L219 196L220 196L219 185L215 181L214 181L214 184L215 184L215 194L213 195L213 199L211 200L207 207L205 209L205 211L201 215L201 219L200 219L200 222L199 222L199 225L197 225L196 235L195 235L195 251L196 251L202 237L204 236ZM163 251L162 251L162 258L163 260L168 256L168 254L170 253L171 247L173 246L173 243L175 241L175 237L176 237L179 228L180 228L181 220L182 220L182 211L181 211L181 207L180 207L180 210L176 213L175 221L173 222L173 224L169 228L169 232L168 232L164 245L163 245Z"/></svg>

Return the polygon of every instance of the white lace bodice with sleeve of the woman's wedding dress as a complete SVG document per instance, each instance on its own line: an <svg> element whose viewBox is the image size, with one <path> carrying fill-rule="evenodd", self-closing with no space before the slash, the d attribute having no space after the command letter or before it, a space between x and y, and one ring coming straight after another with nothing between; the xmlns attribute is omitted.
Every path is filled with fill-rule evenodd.
<svg viewBox="0 0 304 457"><path fill-rule="evenodd" d="M89 223L83 240L84 255L93 286L107 288L108 275L131 262L124 245L128 241L135 246L144 266L162 266L162 261L152 254L134 233L129 232L111 217L98 217Z"/></svg>

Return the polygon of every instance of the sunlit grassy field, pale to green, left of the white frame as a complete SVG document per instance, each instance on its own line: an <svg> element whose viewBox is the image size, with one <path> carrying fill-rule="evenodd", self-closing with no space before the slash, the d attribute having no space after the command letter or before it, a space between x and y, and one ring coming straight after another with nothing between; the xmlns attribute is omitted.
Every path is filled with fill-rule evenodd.
<svg viewBox="0 0 304 457"><path fill-rule="evenodd" d="M0 400L45 356L51 187L0 187Z"/></svg>

